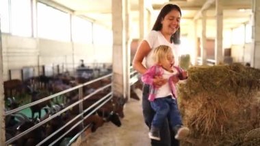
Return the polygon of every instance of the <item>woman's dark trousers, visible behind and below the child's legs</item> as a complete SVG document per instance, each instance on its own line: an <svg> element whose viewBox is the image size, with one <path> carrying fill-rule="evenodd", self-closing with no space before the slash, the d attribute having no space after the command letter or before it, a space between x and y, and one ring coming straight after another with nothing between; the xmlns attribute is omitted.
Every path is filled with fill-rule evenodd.
<svg viewBox="0 0 260 146"><path fill-rule="evenodd" d="M142 90L142 109L144 114L144 122L151 128L151 123L155 115L155 111L151 108L149 96L149 85L144 84ZM161 141L151 139L152 146L179 146L179 141L174 139L174 132L169 125L168 119L165 118L160 129Z"/></svg>

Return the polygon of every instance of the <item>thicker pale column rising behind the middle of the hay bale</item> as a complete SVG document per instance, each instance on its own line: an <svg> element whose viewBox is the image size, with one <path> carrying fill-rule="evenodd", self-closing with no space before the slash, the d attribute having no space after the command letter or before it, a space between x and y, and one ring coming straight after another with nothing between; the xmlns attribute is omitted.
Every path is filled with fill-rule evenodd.
<svg viewBox="0 0 260 146"><path fill-rule="evenodd" d="M220 62L224 62L223 57L223 48L222 48L222 41L223 41L223 8L222 8L222 0L216 0L216 41L215 41L215 60L216 64L220 64Z"/></svg>

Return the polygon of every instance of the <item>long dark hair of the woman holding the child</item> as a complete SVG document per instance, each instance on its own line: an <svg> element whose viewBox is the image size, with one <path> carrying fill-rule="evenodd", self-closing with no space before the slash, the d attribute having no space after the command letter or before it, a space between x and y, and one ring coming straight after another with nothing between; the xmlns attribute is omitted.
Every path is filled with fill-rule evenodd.
<svg viewBox="0 0 260 146"><path fill-rule="evenodd" d="M161 25L161 20L164 19L164 17L166 16L166 14L168 14L170 11L172 10L177 10L180 12L181 14L181 9L179 8L178 5L174 5L174 4L167 4L164 5L164 8L161 9L161 12L159 13L159 15L157 16L157 19L155 21L155 25L153 25L153 30L155 31L159 31L162 28ZM181 28L179 28L174 34L172 34L170 40L171 42L174 42L174 44L180 44L180 36L181 36Z"/></svg>

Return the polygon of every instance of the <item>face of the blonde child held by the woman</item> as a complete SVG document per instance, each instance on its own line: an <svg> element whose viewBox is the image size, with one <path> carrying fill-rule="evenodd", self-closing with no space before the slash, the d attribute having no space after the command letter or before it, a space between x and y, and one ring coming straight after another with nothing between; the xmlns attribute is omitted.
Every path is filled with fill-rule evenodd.
<svg viewBox="0 0 260 146"><path fill-rule="evenodd" d="M174 56L172 51L167 53L167 56L161 58L159 65L161 65L166 71L172 71L172 66L174 64Z"/></svg>

